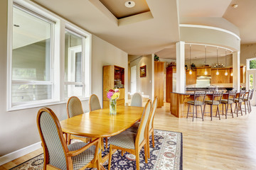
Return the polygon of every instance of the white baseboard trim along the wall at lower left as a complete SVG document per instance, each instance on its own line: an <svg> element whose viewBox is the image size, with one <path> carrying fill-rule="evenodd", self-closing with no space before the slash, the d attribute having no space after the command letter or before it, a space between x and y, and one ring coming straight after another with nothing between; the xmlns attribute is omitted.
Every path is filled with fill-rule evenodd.
<svg viewBox="0 0 256 170"><path fill-rule="evenodd" d="M30 145L28 147L23 147L23 148L18 149L14 152L6 154L6 155L0 157L0 165L6 164L7 162L11 162L14 159L17 159L18 157L22 157L25 154L29 154L30 152L33 152L37 149L40 149L41 147L42 147L41 142L37 142L37 143L35 143L33 145Z"/></svg>

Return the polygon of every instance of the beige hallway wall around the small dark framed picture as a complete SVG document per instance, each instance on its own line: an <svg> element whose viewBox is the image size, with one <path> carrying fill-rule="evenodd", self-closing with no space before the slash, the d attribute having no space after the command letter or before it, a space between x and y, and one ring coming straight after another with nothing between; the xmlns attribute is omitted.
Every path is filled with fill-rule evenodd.
<svg viewBox="0 0 256 170"><path fill-rule="evenodd" d="M136 57L137 59L130 61L130 67L137 66L137 91L149 95L152 98L152 62L151 55ZM146 77L140 77L139 67L146 65ZM131 80L129 79L129 86Z"/></svg>

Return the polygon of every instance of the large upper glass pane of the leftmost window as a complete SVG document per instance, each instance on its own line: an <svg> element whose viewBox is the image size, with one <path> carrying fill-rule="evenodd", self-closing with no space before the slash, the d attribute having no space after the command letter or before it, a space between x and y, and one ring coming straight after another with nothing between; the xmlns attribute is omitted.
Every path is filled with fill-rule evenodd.
<svg viewBox="0 0 256 170"><path fill-rule="evenodd" d="M12 79L50 81L51 23L14 8L13 24Z"/></svg>

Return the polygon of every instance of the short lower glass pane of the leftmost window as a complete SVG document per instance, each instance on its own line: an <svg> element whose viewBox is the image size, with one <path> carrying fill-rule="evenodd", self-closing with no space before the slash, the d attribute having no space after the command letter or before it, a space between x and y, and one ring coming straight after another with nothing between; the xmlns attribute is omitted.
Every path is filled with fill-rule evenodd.
<svg viewBox="0 0 256 170"><path fill-rule="evenodd" d="M13 84L12 103L41 101L52 98L52 85Z"/></svg>

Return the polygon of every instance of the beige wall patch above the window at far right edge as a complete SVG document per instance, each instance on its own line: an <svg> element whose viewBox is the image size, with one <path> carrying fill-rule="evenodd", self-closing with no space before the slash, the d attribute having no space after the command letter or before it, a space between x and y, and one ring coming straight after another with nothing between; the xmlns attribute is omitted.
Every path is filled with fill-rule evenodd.
<svg viewBox="0 0 256 170"><path fill-rule="evenodd" d="M246 59L255 58L255 57L256 57L256 43L241 45L241 51L240 51L241 65L246 66Z"/></svg>

